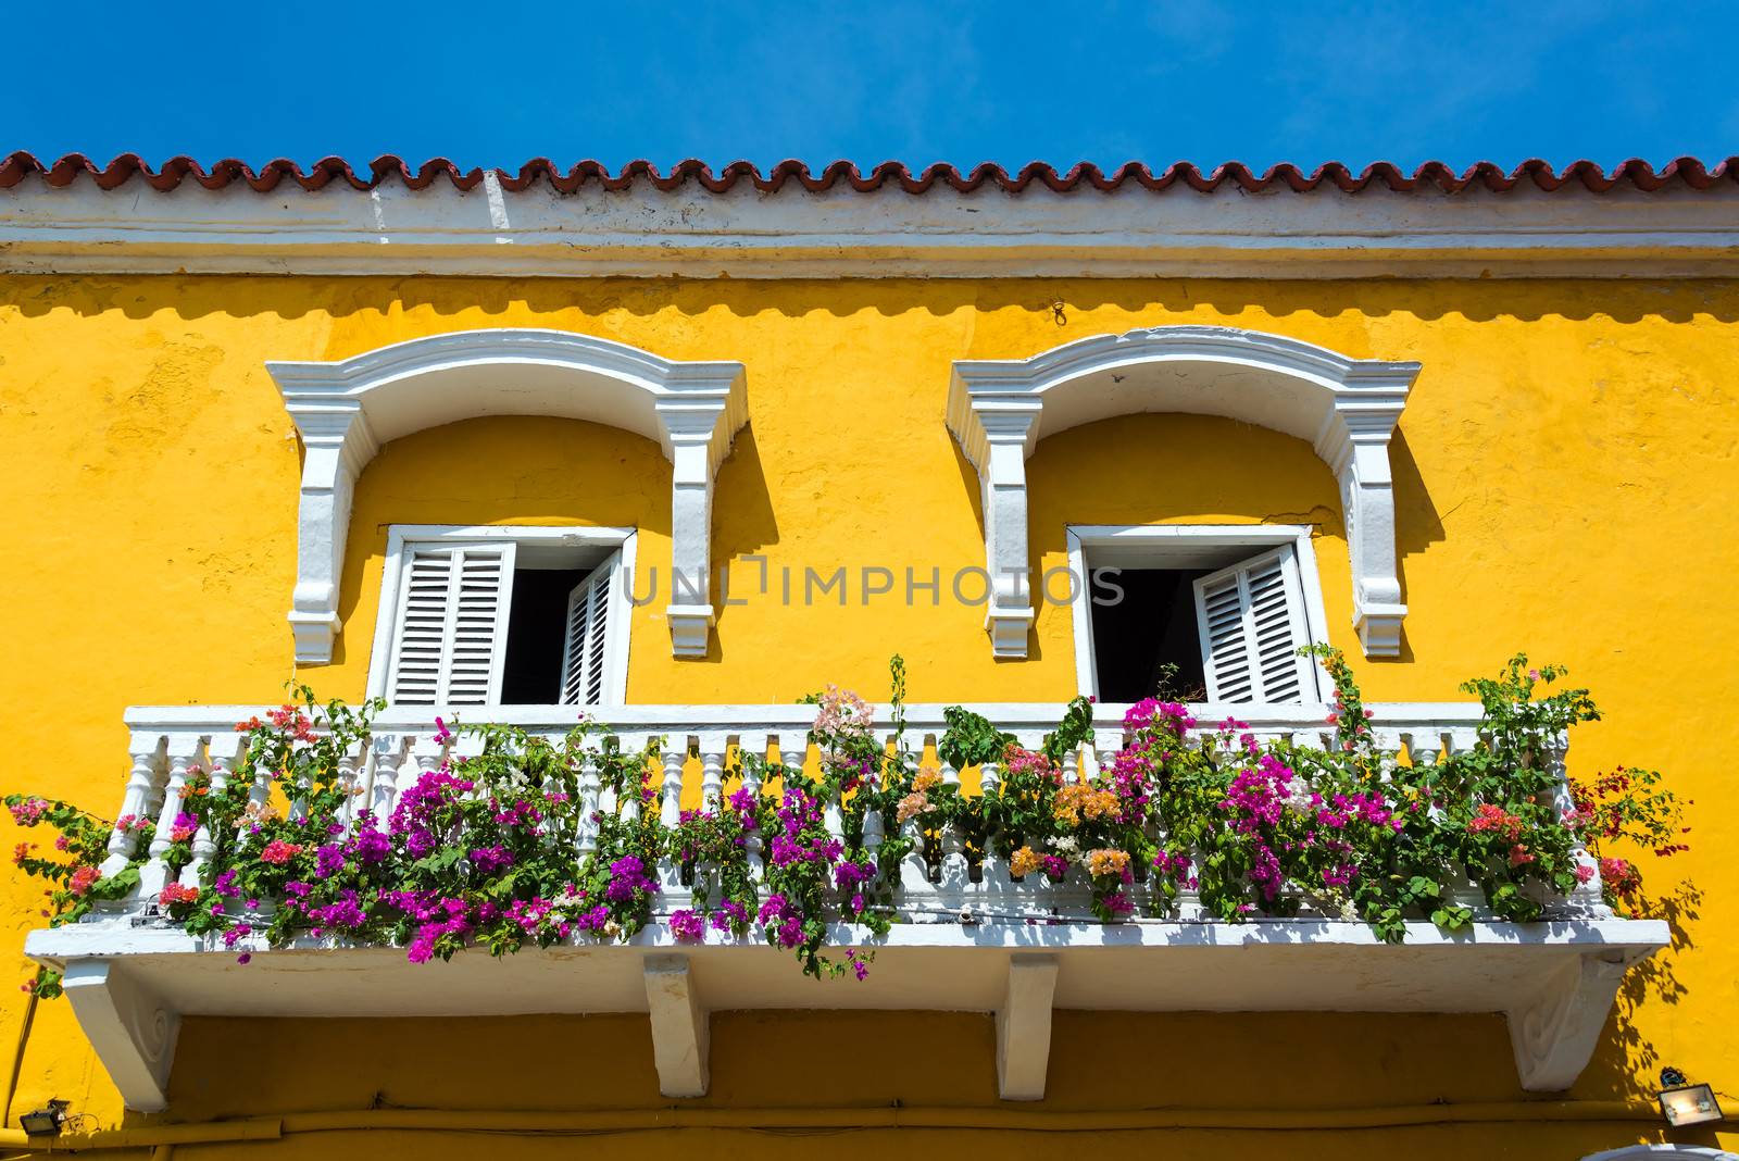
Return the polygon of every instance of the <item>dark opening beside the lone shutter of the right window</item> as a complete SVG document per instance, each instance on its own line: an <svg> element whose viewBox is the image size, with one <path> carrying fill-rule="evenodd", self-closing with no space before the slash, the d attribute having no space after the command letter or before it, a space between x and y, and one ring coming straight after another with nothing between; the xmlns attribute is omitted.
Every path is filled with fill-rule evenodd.
<svg viewBox="0 0 1739 1161"><path fill-rule="evenodd" d="M1207 700L1195 589L1205 568L1123 568L1092 586L1092 652L1101 702ZM1097 601L1116 596L1115 605Z"/></svg>

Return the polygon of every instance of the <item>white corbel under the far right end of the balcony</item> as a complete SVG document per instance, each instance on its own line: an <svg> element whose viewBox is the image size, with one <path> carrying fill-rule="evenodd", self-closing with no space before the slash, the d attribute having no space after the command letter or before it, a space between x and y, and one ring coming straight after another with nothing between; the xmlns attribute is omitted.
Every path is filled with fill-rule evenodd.
<svg viewBox="0 0 1739 1161"><path fill-rule="evenodd" d="M1556 1093L1576 1083L1595 1055L1600 1029L1633 958L1624 952L1577 956L1509 1008L1509 1046L1522 1088Z"/></svg>

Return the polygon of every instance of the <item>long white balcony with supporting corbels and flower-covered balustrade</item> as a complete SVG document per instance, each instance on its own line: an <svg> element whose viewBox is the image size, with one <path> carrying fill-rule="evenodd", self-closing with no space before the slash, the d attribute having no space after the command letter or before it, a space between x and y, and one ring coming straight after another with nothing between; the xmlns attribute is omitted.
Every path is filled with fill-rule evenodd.
<svg viewBox="0 0 1739 1161"><path fill-rule="evenodd" d="M1023 746L1036 747L1061 706L979 707ZM1379 747L1414 763L1478 744L1476 706L1372 706ZM132 777L118 813L167 820L176 791L195 765L235 772L235 721L257 707L163 707L127 714ZM358 801L390 810L398 787L436 768L443 747L431 737L430 707L393 707L376 718L367 751L355 754ZM570 707L470 709L466 721L503 721L560 739ZM1259 739L1323 739L1320 707L1203 706L1196 716L1238 716ZM610 711L624 751L664 739L657 808L675 822L678 803L716 801L736 749L786 761L807 749L809 706L635 706ZM1096 721L1096 751L1064 761L1066 777L1092 773L1122 744L1122 707ZM908 707L906 740L939 737L939 706ZM687 739L689 746L682 742ZM697 761L683 761L687 753ZM983 772L967 770L967 791ZM995 777L995 775L993 775ZM697 779L683 794L685 779ZM944 779L962 779L944 768ZM598 808L617 806L609 791ZM836 812L833 812L836 815ZM890 820L892 822L892 820ZM129 836L111 850L125 862ZM683 872L661 867L654 923L631 942L588 935L569 945L522 951L506 959L464 952L450 963L412 965L398 949L350 947L301 939L270 951L235 951L188 937L157 914L169 869L151 857L136 899L90 921L33 932L26 952L66 975L73 1008L136 1109L162 1109L183 1015L231 1017L426 1017L647 1012L661 1088L689 1097L706 1090L706 1013L741 1008L870 1008L995 1012L998 1076L1010 1100L1043 1095L1050 1010L1144 1012L1447 1012L1508 1017L1523 1088L1569 1088L1586 1065L1624 970L1661 949L1659 921L1614 918L1598 881L1553 900L1537 923L1499 923L1475 909L1471 928L1449 933L1409 925L1407 940L1381 942L1365 923L1329 916L1207 919L1188 899L1165 919L1103 925L1087 911L1087 883L1012 879L995 857L970 860L958 834L930 839L925 859L897 869L901 923L885 937L836 925L840 947L873 947L868 980L816 982L791 954L753 939L680 944L664 923L689 904ZM160 852L157 852L160 853ZM197 864L181 871L193 881ZM1141 885L1137 883L1137 904ZM1468 897L1469 902L1473 895Z"/></svg>

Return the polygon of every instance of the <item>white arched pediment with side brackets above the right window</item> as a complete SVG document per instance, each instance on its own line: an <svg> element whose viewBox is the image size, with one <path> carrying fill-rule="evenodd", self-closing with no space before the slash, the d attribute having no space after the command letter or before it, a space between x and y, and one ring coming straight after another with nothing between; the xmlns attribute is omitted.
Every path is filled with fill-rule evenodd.
<svg viewBox="0 0 1739 1161"><path fill-rule="evenodd" d="M1137 412L1226 415L1309 441L1341 485L1353 622L1365 655L1396 655L1407 607L1396 575L1389 436L1417 374L1419 363L1355 360L1231 327L1155 327L1026 360L956 362L948 428L984 492L996 655L1024 657L1033 622L1026 459L1049 435Z"/></svg>

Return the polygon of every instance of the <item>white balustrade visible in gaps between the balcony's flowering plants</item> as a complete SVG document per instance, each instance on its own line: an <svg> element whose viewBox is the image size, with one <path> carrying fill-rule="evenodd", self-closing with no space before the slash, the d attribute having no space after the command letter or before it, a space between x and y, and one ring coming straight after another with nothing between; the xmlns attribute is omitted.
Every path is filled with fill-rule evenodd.
<svg viewBox="0 0 1739 1161"><path fill-rule="evenodd" d="M1391 773L1402 761L1414 766L1429 766L1445 761L1449 756L1466 753L1480 744L1478 707L1476 706L1374 706L1370 720L1372 739L1383 756L1383 768ZM170 834L176 817L183 812L183 787L190 777L202 768L209 770L212 789L221 791L233 779L250 779L249 801L256 810L264 810L271 803L271 770L249 770L245 753L238 749L245 739L233 732L233 723L256 713L252 707L202 709L202 707L167 707L136 709L127 716L130 728L130 770L122 798L122 815L148 819L155 815L157 834L146 852L139 850L137 827L117 826L108 843L108 860L104 871L113 872L127 866L129 860L141 860L141 888L136 900L118 904L120 909L153 904L163 886L172 881L169 866L163 860L170 846ZM343 812L341 822L350 827L363 812L372 812L384 826L403 789L419 777L440 770L463 753L463 737L436 740L430 723L440 713L430 707L390 707L374 725L374 733L339 760L339 786L355 791ZM565 735L567 709L551 707L499 707L499 711L471 711L470 720L503 721L518 725L530 735L560 746ZM1054 728L1061 718L1063 706L1049 704L1012 704L993 706L984 711L998 728L1010 733L1017 744L1038 749L1045 730ZM617 730L609 742L612 753L602 760L586 758L577 770L579 789L579 829L576 836L577 857L584 857L598 846L602 817L640 819L649 808L642 801L635 786L633 768L621 793L603 787L600 779L600 761L626 761L640 758L643 763L647 801L650 810L666 827L675 827L682 817L685 780L696 777L690 772L689 756L697 758L697 782L689 789L690 801L697 801L706 810L725 808L725 799L739 787L748 789L758 799L767 798L770 787L763 784L760 763L777 772L800 768L807 761L807 730L814 709L807 706L630 706L607 714ZM918 754L934 744L946 730L939 706L911 706L908 716L908 740L913 740ZM1334 730L1323 725L1322 707L1198 707L1196 718L1209 732L1228 716L1250 721L1249 732L1259 742L1290 739L1297 744L1334 746ZM1116 761L1118 747L1123 744L1120 713L1115 707L1099 707L1096 714L1096 739L1080 749L1063 754L1061 779L1064 784L1094 780L1109 775ZM883 726L878 740L892 740L890 728ZM656 756L656 760L654 760ZM776 758L777 756L777 758ZM727 761L729 760L729 761ZM1562 789L1562 753L1555 754L1555 770L1560 777L1560 791L1553 805L1558 810L1570 810L1569 791ZM963 772L953 765L939 763L943 786L962 793ZM998 763L986 763L977 768L977 793L995 798L1005 784L1005 772ZM551 775L548 789L560 780ZM292 812L306 808L308 787L283 786L283 793L292 801ZM845 838L845 806L838 796L823 803L826 831ZM897 831L909 839L911 848L894 866L882 866L880 850L890 831ZM1158 846L1165 846L1165 836L1156 829L1151 838ZM863 845L871 859L876 859L882 881L896 888L896 907L915 921L958 921L965 912L983 912L986 916L1063 916L1083 918L1090 900L1090 878L1080 866L1071 866L1063 883L1054 883L1043 874L1028 874L1017 881L1009 874L1009 862L996 850L977 852L974 866L967 852L969 836L956 826L944 826L937 833L925 834L916 819L899 822L890 815L882 817L871 812L863 820ZM767 857L769 836L750 834L746 855L750 874L762 881L765 876L763 860ZM200 829L193 838L193 860L181 871L179 879L197 883L205 864L214 857L214 836ZM1186 852L1174 852L1186 853ZM692 869L694 886L710 888L716 897L716 867ZM1136 869L1136 885L1130 893L1137 907L1144 907L1151 874L1148 867ZM671 859L664 859L657 867L661 895L654 907L668 912L673 907L687 906L690 886L683 883L683 869ZM1462 895L1466 897L1466 895ZM1577 888L1569 900L1553 900L1555 907L1565 912L1586 912L1603 916L1600 904L1600 885L1593 879ZM1184 890L1169 914L1181 918L1196 916L1198 906L1193 892Z"/></svg>

